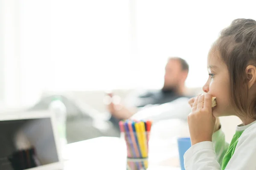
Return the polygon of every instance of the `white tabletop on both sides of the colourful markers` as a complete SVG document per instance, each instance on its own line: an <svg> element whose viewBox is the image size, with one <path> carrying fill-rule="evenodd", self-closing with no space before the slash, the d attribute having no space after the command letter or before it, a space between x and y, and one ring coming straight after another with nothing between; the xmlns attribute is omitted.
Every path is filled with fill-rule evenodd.
<svg viewBox="0 0 256 170"><path fill-rule="evenodd" d="M160 145L162 149L158 149ZM65 153L68 161L64 170L126 170L126 145L120 138L99 137L68 144ZM148 161L148 170L180 170L177 147L170 141L151 141Z"/></svg>

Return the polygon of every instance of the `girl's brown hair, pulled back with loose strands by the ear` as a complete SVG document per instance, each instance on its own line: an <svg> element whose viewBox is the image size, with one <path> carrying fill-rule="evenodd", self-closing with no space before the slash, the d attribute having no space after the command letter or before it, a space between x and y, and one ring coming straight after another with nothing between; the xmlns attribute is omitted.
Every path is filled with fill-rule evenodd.
<svg viewBox="0 0 256 170"><path fill-rule="evenodd" d="M236 19L221 31L214 44L227 65L230 79L231 104L239 111L256 118L256 96L248 103L248 79L245 69L256 66L256 21Z"/></svg>

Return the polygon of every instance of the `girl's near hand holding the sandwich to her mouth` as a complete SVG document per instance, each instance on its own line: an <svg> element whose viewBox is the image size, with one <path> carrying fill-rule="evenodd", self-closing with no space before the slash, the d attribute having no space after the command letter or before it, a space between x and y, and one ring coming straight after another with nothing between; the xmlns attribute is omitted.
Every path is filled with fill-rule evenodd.
<svg viewBox="0 0 256 170"><path fill-rule="evenodd" d="M215 121L212 115L212 96L210 94L197 96L192 105L192 112L188 116L191 144L212 141Z"/></svg>

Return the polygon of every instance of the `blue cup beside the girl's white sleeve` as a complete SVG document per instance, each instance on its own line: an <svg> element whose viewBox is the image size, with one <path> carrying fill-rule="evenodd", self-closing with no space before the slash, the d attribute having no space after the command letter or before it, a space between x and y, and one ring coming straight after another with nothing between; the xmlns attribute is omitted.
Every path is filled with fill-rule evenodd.
<svg viewBox="0 0 256 170"><path fill-rule="evenodd" d="M181 170L185 170L184 167L184 153L191 147L191 141L190 138L178 138L178 150L179 150L179 156L180 156L180 167Z"/></svg>

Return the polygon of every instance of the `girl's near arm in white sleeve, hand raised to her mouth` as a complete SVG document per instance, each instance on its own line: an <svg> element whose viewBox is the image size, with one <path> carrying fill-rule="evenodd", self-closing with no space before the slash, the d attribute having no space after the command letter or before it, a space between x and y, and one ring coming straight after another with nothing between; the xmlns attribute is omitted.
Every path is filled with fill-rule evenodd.
<svg viewBox="0 0 256 170"><path fill-rule="evenodd" d="M217 122L218 119L212 115L212 96L197 96L188 116L192 146L184 154L186 170L221 170L218 160L225 152L225 137L218 136L221 130L213 133ZM213 139L215 136L218 137L217 140ZM212 141L216 141L215 144ZM219 158L216 156L215 145L218 146L216 150L220 150L220 154L217 154Z"/></svg>

